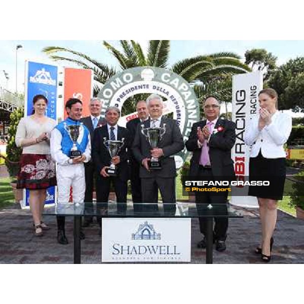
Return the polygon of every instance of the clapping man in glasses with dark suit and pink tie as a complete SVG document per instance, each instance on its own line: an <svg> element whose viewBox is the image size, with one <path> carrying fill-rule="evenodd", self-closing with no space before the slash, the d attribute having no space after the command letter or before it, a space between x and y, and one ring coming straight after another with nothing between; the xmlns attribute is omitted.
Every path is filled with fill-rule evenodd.
<svg viewBox="0 0 304 304"><path fill-rule="evenodd" d="M189 176L210 180L214 177L234 176L234 165L231 159L231 149L236 141L236 125L232 121L219 119L220 105L213 96L206 98L204 113L206 120L195 123L185 145L193 152ZM200 204L223 204L223 212L227 212L227 192L212 194L212 192L196 193L197 208ZM200 230L204 238L198 243L198 248L206 248L206 225L204 218L199 218ZM225 240L228 228L228 218L215 218L213 238L216 250L226 249Z"/></svg>

